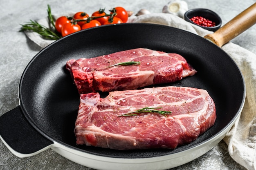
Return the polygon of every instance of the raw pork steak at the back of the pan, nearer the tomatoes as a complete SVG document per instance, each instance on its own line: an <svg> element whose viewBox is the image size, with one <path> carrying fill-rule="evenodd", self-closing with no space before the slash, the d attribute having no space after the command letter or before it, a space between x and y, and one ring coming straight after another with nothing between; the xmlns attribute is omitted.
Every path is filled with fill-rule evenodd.
<svg viewBox="0 0 256 170"><path fill-rule="evenodd" d="M140 65L109 67L121 62L139 61ZM130 90L147 85L171 83L196 71L179 54L150 49L130 49L96 58L67 61L79 94Z"/></svg>

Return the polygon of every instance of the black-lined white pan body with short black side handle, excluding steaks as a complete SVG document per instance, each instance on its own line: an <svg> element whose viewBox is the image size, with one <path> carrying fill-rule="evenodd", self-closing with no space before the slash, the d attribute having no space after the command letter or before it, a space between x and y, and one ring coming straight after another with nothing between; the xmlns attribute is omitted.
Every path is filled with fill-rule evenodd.
<svg viewBox="0 0 256 170"><path fill-rule="evenodd" d="M76 145L79 94L65 69L66 61L138 47L181 54L193 65L198 71L195 76L164 85L206 89L216 103L215 125L192 143L173 150L120 151ZM18 157L51 148L95 169L168 169L200 157L223 139L240 116L245 91L234 60L205 38L163 25L106 25L61 38L29 62L18 87L20 105L0 117L0 138Z"/></svg>

